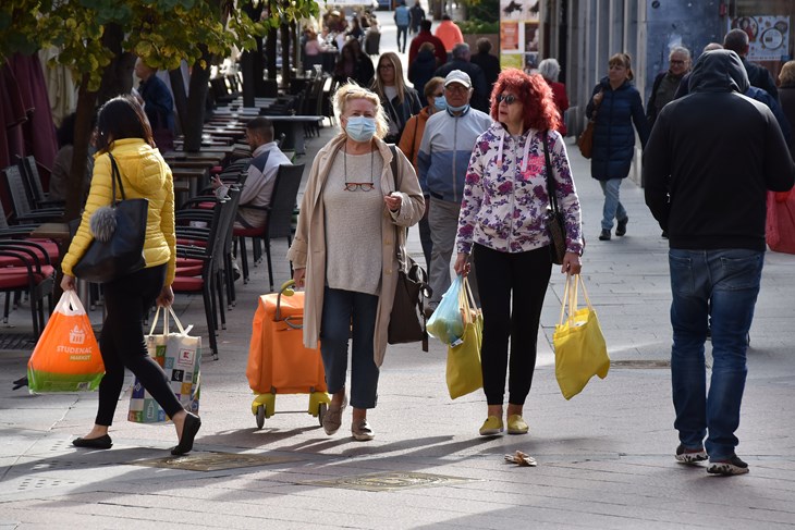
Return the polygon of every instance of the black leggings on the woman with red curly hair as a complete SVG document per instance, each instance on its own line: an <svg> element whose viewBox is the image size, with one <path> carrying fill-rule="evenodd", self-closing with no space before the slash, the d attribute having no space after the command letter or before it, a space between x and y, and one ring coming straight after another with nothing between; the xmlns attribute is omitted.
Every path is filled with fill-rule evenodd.
<svg viewBox="0 0 795 530"><path fill-rule="evenodd" d="M509 254L475 246L475 274L484 310L480 357L486 400L489 405L503 403L510 337L509 403L524 405L533 384L538 324L552 274L549 247Z"/></svg>

